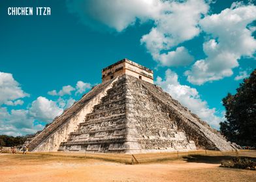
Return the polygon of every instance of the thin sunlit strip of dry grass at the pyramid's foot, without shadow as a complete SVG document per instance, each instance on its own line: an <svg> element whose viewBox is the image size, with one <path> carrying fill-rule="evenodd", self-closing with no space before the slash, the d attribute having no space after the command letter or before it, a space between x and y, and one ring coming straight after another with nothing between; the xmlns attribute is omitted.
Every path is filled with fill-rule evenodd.
<svg viewBox="0 0 256 182"><path fill-rule="evenodd" d="M215 160L218 158L227 159L227 157L256 157L256 151L240 150L236 151L210 151L197 150L189 152L169 152L169 153L141 153L141 154L122 154L122 153L67 153L67 152L32 152L29 155L37 157L59 156L59 157L73 157L82 159L101 159L103 161L120 162L123 164L142 164L149 162L173 161L184 157L207 156L206 158ZM215 157L214 157L215 156ZM214 158L214 159L213 159ZM185 158L187 159L187 158ZM219 161L218 161L219 162Z"/></svg>

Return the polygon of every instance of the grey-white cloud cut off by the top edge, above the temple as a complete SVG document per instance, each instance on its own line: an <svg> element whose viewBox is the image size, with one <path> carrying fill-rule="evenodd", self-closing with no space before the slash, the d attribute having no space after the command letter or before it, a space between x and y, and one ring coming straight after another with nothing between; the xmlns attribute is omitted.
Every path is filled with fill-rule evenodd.
<svg viewBox="0 0 256 182"><path fill-rule="evenodd" d="M92 28L110 27L120 32L133 25L136 19L146 21L159 16L165 4L160 0L84 0L67 1L67 8Z"/></svg>

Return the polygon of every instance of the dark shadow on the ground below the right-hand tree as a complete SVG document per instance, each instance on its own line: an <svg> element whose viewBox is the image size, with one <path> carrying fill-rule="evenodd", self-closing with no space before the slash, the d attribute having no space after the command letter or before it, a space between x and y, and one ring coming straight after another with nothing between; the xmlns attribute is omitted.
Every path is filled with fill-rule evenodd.
<svg viewBox="0 0 256 182"><path fill-rule="evenodd" d="M234 156L207 156L207 155L190 155L183 157L187 162L199 162L199 163L208 163L208 164L221 164L222 161L227 161L234 158ZM256 157L244 157L240 156L240 159L250 159L256 161Z"/></svg>

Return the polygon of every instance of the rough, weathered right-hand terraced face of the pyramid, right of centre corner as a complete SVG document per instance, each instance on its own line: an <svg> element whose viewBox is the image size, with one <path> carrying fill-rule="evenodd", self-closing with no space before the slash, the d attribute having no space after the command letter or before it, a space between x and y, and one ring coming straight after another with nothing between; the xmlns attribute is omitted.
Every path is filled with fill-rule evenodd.
<svg viewBox="0 0 256 182"><path fill-rule="evenodd" d="M183 129L178 129L174 116L142 85L143 81L127 76L130 104L128 120L135 120L137 142L141 151L172 151L196 149Z"/></svg>

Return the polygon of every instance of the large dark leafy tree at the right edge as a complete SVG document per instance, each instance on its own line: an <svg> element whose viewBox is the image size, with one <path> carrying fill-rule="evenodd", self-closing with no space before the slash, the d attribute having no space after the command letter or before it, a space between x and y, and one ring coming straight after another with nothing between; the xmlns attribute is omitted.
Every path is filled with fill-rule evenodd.
<svg viewBox="0 0 256 182"><path fill-rule="evenodd" d="M222 99L227 121L220 130L231 142L242 146L256 146L256 69L236 89Z"/></svg>

